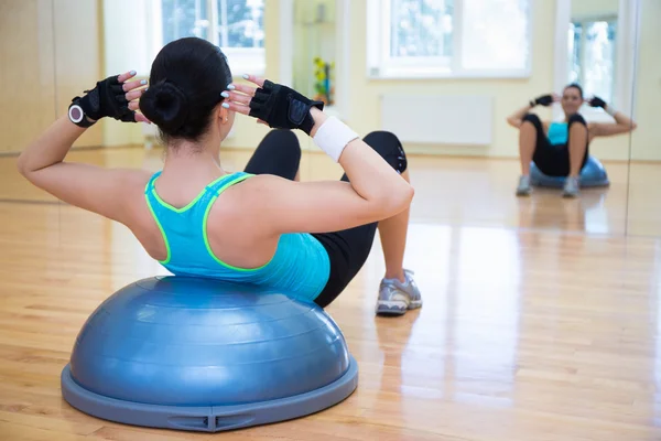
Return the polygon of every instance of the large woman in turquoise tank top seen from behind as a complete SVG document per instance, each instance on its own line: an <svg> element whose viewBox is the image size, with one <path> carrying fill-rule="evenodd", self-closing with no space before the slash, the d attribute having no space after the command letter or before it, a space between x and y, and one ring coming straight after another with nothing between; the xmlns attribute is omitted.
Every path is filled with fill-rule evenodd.
<svg viewBox="0 0 661 441"><path fill-rule="evenodd" d="M134 72L98 82L73 99L18 162L34 185L77 207L126 225L167 270L262 286L322 308L366 261L377 227L386 258L377 313L403 314L422 299L403 269L413 187L397 137L361 140L289 87L247 76L232 85L225 55L205 40L164 46L149 88ZM140 110L141 112L138 112ZM219 162L236 114L275 130L243 172ZM163 170L101 169L65 162L73 142L104 117L155 123L166 144ZM345 174L297 182L301 149L290 130L314 139Z"/></svg>

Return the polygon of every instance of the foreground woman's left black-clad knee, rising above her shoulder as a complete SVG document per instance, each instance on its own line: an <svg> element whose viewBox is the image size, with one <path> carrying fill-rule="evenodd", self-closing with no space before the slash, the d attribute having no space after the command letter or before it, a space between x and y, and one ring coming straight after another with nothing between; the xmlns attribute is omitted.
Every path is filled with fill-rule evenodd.
<svg viewBox="0 0 661 441"><path fill-rule="evenodd" d="M246 173L275 174L297 181L301 164L299 138L291 130L271 130L248 161Z"/></svg>

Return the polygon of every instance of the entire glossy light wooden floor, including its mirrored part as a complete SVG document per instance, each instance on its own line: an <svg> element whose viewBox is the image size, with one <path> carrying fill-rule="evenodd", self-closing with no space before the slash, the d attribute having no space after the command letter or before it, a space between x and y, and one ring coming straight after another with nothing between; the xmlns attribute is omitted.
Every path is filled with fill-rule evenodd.
<svg viewBox="0 0 661 441"><path fill-rule="evenodd" d="M76 157L160 166L159 152L140 149ZM247 159L227 152L224 161L238 169ZM59 373L91 311L165 271L124 227L19 180L14 160L0 159L0 440L208 439L107 422L62 399ZM405 265L423 309L375 318L383 272L375 244L328 309L359 363L356 392L304 419L215 437L661 440L661 240L624 235L626 168L609 168L610 189L564 201L557 192L513 197L511 161L410 163L416 195ZM316 154L302 172L338 175Z"/></svg>

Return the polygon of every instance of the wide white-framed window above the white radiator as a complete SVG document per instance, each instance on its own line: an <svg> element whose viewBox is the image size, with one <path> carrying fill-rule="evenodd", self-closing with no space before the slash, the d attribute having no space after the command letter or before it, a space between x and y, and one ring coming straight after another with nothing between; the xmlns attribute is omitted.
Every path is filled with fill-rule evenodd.
<svg viewBox="0 0 661 441"><path fill-rule="evenodd" d="M372 77L525 76L530 0L368 0Z"/></svg>

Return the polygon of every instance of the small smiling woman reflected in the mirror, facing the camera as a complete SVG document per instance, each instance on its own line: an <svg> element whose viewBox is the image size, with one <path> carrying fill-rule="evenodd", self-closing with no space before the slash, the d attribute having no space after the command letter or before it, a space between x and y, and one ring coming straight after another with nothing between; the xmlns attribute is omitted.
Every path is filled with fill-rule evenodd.
<svg viewBox="0 0 661 441"><path fill-rule="evenodd" d="M562 122L542 122L537 115L530 112L538 105L551 106L557 101L561 103L565 115ZM549 176L567 176L563 196L577 196L578 174L587 161L592 140L636 129L636 122L604 103L599 97L592 98L588 104L592 107L602 107L615 118L615 122L585 122L585 119L578 114L584 103L581 86L571 84L564 88L562 97L555 94L540 96L507 119L510 126L520 129L521 178L517 187L518 196L530 194L531 161L534 161L540 171Z"/></svg>

